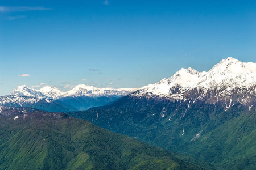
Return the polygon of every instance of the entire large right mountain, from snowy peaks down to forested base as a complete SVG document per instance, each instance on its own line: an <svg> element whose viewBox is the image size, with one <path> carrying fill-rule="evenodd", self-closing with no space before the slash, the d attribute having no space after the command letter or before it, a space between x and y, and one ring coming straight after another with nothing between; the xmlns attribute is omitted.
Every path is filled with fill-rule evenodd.
<svg viewBox="0 0 256 170"><path fill-rule="evenodd" d="M218 169L255 169L255 96L256 63L229 57L207 72L181 69L109 105L68 114Z"/></svg>

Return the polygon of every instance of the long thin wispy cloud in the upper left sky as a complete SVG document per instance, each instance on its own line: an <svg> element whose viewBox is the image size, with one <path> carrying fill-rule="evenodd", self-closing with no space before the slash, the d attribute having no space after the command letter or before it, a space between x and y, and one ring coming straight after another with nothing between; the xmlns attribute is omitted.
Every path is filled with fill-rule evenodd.
<svg viewBox="0 0 256 170"><path fill-rule="evenodd" d="M0 12L23 12L23 11L45 11L51 10L51 8L45 8L42 6L0 6Z"/></svg>

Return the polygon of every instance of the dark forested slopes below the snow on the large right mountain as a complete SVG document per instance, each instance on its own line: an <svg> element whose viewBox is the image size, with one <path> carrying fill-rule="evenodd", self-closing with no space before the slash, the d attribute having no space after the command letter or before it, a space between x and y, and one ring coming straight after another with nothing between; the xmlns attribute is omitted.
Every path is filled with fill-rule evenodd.
<svg viewBox="0 0 256 170"><path fill-rule="evenodd" d="M251 152L256 145L255 108L248 111L240 103L225 111L222 103L203 100L179 103L125 96L105 107L68 114L150 145L193 155L220 169L256 168Z"/></svg>

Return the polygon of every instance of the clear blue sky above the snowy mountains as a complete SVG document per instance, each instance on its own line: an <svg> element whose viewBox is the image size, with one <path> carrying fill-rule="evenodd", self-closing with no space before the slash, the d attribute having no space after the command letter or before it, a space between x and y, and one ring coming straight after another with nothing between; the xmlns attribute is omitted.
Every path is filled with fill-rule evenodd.
<svg viewBox="0 0 256 170"><path fill-rule="evenodd" d="M0 95L134 88L222 59L256 62L256 1L0 1Z"/></svg>

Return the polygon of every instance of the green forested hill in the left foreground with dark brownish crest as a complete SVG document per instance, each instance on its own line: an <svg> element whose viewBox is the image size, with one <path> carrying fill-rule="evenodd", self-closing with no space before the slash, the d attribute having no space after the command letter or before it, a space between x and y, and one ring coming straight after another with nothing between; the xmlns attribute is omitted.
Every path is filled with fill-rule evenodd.
<svg viewBox="0 0 256 170"><path fill-rule="evenodd" d="M0 117L0 169L203 169L64 113L14 116Z"/></svg>

